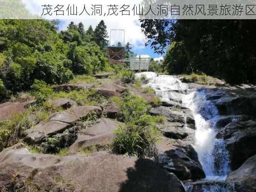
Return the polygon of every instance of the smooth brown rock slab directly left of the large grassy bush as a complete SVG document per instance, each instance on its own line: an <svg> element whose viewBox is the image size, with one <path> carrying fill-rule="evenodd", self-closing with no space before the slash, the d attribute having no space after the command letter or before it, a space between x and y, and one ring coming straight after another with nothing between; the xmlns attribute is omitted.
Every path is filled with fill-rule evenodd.
<svg viewBox="0 0 256 192"><path fill-rule="evenodd" d="M75 143L70 146L69 151L74 152L81 147L89 147L94 144L109 144L114 138L114 131L118 129L118 125L122 122L109 119L101 119L99 123L94 124L87 129L81 130Z"/></svg>

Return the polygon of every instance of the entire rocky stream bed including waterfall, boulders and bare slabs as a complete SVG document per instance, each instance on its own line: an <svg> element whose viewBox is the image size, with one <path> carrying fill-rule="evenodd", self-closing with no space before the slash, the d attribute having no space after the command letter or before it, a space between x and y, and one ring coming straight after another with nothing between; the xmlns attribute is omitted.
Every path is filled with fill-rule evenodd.
<svg viewBox="0 0 256 192"><path fill-rule="evenodd" d="M105 150L90 156L79 154L81 147L111 143L113 131L122 124L115 120L117 108L111 102L101 108L59 99L53 102L66 110L53 114L47 123L38 122L24 139L39 144L45 154L32 154L24 144L0 153L0 189L16 191L33 181L31 189L43 186L45 191L60 192L256 192L256 88L183 83L182 77L153 72L136 77L141 74L147 77L143 86L153 88L161 98L161 106L151 108L150 114L167 120L160 128L163 134L156 159ZM110 98L122 97L129 86L102 82L56 89L89 87ZM138 90L131 91L149 99ZM0 104L0 119L8 119L12 111L24 111L28 104ZM99 119L77 131L75 123L87 112ZM69 155L47 154L51 145L46 141L53 136L68 146Z"/></svg>

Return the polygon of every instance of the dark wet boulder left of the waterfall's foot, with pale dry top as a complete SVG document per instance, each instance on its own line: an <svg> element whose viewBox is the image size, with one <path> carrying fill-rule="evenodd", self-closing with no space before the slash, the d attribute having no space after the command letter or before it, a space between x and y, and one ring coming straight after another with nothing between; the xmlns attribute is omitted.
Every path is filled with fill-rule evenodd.
<svg viewBox="0 0 256 192"><path fill-rule="evenodd" d="M206 177L191 144L162 138L157 144L157 149L158 163L180 180L199 180Z"/></svg>

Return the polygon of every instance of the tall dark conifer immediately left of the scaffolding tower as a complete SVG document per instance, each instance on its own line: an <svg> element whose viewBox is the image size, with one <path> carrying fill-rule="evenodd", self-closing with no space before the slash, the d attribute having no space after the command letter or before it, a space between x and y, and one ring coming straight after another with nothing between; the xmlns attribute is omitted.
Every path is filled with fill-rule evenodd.
<svg viewBox="0 0 256 192"><path fill-rule="evenodd" d="M106 39L108 37L107 26L104 21L101 20L94 31L94 41L98 44L101 50L108 45L108 40Z"/></svg>

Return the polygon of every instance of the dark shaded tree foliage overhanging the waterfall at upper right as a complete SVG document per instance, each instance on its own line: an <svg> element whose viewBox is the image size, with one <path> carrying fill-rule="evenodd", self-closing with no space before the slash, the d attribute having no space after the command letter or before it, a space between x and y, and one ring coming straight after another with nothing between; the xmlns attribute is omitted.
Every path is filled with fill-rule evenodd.
<svg viewBox="0 0 256 192"><path fill-rule="evenodd" d="M142 20L147 44L165 52L170 74L205 73L231 84L256 83L252 20Z"/></svg>

